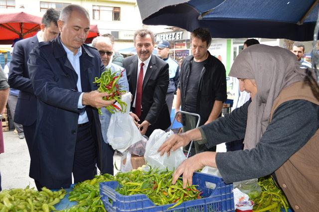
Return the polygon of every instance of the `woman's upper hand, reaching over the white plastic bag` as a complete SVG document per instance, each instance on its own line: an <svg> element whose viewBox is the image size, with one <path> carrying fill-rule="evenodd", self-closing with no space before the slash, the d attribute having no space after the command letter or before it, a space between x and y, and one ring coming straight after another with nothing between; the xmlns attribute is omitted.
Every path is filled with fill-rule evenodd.
<svg viewBox="0 0 319 212"><path fill-rule="evenodd" d="M169 156L170 150L175 151L181 146L186 146L190 141L191 139L186 133L172 135L160 146L158 152L160 152L160 155L167 152L167 156Z"/></svg>

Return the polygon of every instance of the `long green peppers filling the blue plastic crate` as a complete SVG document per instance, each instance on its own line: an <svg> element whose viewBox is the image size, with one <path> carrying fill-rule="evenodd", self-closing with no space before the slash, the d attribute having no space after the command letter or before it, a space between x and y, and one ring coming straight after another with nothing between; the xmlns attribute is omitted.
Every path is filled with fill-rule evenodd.
<svg viewBox="0 0 319 212"><path fill-rule="evenodd" d="M172 171L158 171L150 168L149 171L134 170L128 173L118 173L116 175L121 188L116 191L122 195L145 194L155 205L166 205L175 203L168 209L172 209L184 201L201 198L202 192L198 191L194 185L183 189L181 179L175 185L171 184Z"/></svg>

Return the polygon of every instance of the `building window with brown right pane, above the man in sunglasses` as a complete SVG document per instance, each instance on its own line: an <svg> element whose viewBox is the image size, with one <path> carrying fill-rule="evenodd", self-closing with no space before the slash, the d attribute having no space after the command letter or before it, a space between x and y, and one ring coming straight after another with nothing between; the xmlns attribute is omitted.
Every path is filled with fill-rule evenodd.
<svg viewBox="0 0 319 212"><path fill-rule="evenodd" d="M93 5L94 20L121 20L121 7Z"/></svg>

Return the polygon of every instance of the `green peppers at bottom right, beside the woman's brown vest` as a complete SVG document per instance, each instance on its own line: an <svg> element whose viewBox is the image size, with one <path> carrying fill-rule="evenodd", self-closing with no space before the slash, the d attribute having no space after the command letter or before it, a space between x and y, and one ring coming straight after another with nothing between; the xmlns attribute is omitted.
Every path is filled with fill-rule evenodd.
<svg viewBox="0 0 319 212"><path fill-rule="evenodd" d="M281 208L288 212L287 198L271 176L259 178L258 184L262 188L262 193L260 197L253 200L254 212L280 212Z"/></svg>

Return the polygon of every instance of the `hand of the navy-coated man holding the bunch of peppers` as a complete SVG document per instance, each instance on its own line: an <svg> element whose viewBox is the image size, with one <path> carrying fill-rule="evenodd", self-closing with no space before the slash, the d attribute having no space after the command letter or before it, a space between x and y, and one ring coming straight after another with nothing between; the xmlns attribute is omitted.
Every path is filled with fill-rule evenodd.
<svg viewBox="0 0 319 212"><path fill-rule="evenodd" d="M115 103L115 100L103 100L102 98L105 96L108 96L108 93L100 93L98 91L84 93L82 96L82 105L101 108Z"/></svg>

